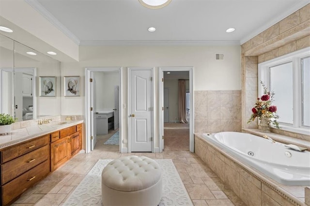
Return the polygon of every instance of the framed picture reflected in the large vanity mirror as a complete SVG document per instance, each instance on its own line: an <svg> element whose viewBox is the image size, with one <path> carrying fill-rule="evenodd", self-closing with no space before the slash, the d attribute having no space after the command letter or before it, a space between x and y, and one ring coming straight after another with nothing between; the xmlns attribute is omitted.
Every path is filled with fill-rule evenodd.
<svg viewBox="0 0 310 206"><path fill-rule="evenodd" d="M39 94L40 97L56 96L56 76L40 76L39 77Z"/></svg>

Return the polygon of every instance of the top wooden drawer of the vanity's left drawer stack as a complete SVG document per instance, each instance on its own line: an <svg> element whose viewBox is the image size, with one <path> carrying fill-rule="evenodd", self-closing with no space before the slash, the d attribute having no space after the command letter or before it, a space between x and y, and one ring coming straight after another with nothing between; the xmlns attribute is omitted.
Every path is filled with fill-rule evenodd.
<svg viewBox="0 0 310 206"><path fill-rule="evenodd" d="M1 151L1 163L8 162L39 147L45 146L49 144L49 141L49 134L47 134L29 142L23 142L15 147L4 149Z"/></svg>

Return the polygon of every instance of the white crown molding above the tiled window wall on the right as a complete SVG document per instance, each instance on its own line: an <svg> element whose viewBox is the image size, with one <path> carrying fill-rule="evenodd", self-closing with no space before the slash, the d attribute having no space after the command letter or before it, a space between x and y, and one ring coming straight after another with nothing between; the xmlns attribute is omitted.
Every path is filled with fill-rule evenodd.
<svg viewBox="0 0 310 206"><path fill-rule="evenodd" d="M249 33L247 36L245 36L244 38L242 38L240 40L240 44L244 44L246 43L248 40L252 39L253 37L255 37L256 35L262 33L264 30L268 29L269 27L275 25L276 23L280 22L281 20L283 20L285 17L293 14L294 12L298 11L299 9L301 9L302 7L306 6L307 4L310 3L310 0L301 0L299 3L297 3L295 6L291 7L290 9L288 9L287 11L285 11L284 13L278 15L276 18L274 18L272 21L268 21L267 24L264 24L263 26L261 26L260 28L252 31L251 33Z"/></svg>

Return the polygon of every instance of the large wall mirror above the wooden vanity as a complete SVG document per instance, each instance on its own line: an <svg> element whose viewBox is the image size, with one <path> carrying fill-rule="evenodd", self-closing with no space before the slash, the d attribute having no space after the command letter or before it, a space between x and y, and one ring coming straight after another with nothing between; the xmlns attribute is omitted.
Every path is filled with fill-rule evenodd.
<svg viewBox="0 0 310 206"><path fill-rule="evenodd" d="M0 34L1 113L17 121L61 113L60 62ZM40 79L54 79L53 95Z"/></svg>

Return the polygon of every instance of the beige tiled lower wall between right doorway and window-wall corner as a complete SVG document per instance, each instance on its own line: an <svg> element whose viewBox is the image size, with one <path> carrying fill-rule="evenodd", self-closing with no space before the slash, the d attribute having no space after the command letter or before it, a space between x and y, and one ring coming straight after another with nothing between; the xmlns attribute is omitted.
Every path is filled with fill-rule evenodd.
<svg viewBox="0 0 310 206"><path fill-rule="evenodd" d="M195 132L241 131L241 90L194 91Z"/></svg>

